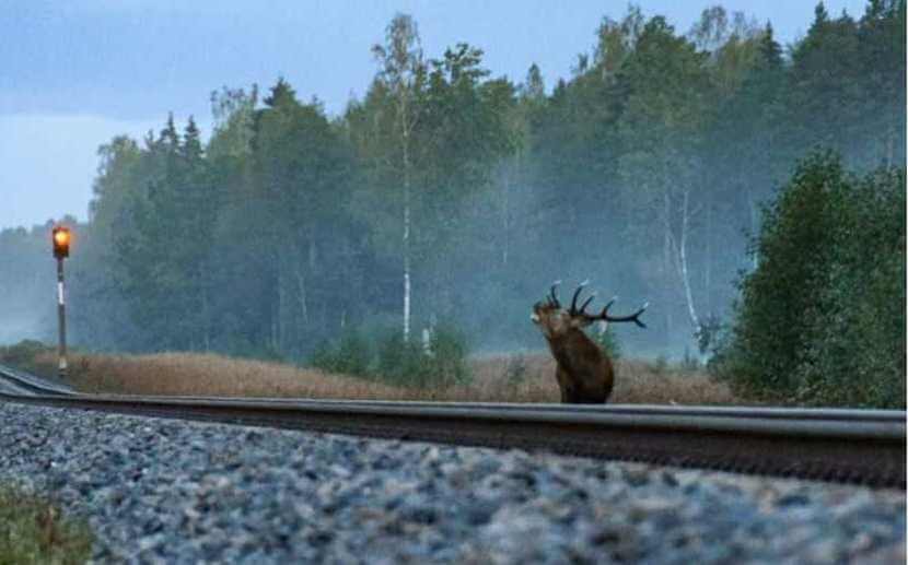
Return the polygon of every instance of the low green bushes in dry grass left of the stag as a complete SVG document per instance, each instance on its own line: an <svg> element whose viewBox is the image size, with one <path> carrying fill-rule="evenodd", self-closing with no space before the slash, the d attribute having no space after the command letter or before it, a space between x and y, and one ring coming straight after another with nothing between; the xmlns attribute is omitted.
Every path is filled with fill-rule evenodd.
<svg viewBox="0 0 908 565"><path fill-rule="evenodd" d="M337 342L322 342L310 364L329 373L342 373L407 387L446 387L469 377L467 341L450 325L440 325L428 349L417 340L405 341L397 328L363 336L346 332Z"/></svg>

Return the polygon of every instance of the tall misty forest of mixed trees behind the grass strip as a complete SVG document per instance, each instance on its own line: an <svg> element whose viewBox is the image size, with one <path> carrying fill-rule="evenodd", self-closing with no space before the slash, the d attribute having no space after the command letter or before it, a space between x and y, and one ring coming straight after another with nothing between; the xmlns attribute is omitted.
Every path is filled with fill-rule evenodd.
<svg viewBox="0 0 908 565"><path fill-rule="evenodd" d="M452 322L479 349L535 348L531 304L590 278L618 305L651 302L629 352L709 346L759 263L760 204L800 157L904 166L905 44L900 0L859 19L818 4L788 52L722 8L686 34L631 8L549 90L536 66L490 76L474 46L431 58L398 15L341 116L279 80L213 93L207 142L172 118L102 146L73 339L303 358L346 331ZM0 236L10 311L45 232Z"/></svg>

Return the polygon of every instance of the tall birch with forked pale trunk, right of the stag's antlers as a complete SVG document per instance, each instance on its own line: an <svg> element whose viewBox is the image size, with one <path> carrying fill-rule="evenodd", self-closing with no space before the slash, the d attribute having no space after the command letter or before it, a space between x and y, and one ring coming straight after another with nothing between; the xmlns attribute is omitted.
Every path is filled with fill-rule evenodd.
<svg viewBox="0 0 908 565"><path fill-rule="evenodd" d="M706 55L676 36L663 19L650 20L622 69L620 86L629 96L618 121L627 144L619 170L628 204L642 214L637 219L641 225L660 226L647 237L650 252L661 248L659 274L664 302L674 303L680 286L694 336L700 332L700 316L691 282L689 238L691 221L709 193L702 186L701 146L708 125L705 94L709 92L705 63ZM660 233L660 242L653 240L655 233ZM664 309L668 340L673 339L672 310Z"/></svg>

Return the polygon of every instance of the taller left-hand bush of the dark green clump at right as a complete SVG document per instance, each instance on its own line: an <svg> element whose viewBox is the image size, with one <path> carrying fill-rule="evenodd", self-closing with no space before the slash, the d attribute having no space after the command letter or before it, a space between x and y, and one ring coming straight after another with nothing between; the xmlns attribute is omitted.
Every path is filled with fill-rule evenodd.
<svg viewBox="0 0 908 565"><path fill-rule="evenodd" d="M765 210L756 254L759 268L741 283L734 374L753 388L792 395L828 272L829 207L843 189L840 163L827 154L803 162Z"/></svg>

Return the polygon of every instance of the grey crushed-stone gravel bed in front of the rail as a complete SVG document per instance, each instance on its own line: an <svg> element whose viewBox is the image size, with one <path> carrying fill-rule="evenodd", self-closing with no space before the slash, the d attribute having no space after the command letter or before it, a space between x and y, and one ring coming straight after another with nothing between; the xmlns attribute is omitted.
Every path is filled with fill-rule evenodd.
<svg viewBox="0 0 908 565"><path fill-rule="evenodd" d="M905 563L905 493L0 403L98 562Z"/></svg>

